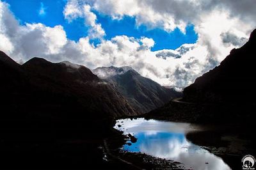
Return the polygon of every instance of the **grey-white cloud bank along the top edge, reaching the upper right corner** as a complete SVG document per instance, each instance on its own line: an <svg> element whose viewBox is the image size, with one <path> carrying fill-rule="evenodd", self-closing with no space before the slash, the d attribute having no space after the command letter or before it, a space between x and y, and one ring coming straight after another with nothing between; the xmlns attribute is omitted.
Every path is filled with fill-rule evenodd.
<svg viewBox="0 0 256 170"><path fill-rule="evenodd" d="M214 10L227 12L230 17L246 22L256 22L254 0L83 0L79 3L88 3L93 9L110 15L113 19L122 19L127 15L135 17L138 25L163 27L166 31L173 31L175 27L184 31L187 24L201 20L202 15L208 15Z"/></svg>

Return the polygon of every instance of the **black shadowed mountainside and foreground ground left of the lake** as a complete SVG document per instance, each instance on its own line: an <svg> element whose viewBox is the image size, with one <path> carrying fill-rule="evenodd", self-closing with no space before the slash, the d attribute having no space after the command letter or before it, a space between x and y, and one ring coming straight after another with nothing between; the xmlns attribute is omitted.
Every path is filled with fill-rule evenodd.
<svg viewBox="0 0 256 170"><path fill-rule="evenodd" d="M105 167L99 146L117 135L113 118L136 115L113 86L67 61L19 65L0 52L0 79L0 169Z"/></svg>

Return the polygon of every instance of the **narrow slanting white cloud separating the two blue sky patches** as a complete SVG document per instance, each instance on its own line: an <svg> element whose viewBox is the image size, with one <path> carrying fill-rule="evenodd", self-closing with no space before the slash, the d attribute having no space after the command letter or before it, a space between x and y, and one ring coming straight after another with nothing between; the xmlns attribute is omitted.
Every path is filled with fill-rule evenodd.
<svg viewBox="0 0 256 170"><path fill-rule="evenodd" d="M104 29L102 29L101 24L97 23L97 16L95 13L91 12L91 6L88 4L83 4L81 1L73 0L68 1L66 4L63 14L65 19L69 22L77 18L84 18L84 24L90 26L88 35L90 38L102 38L106 35Z"/></svg>

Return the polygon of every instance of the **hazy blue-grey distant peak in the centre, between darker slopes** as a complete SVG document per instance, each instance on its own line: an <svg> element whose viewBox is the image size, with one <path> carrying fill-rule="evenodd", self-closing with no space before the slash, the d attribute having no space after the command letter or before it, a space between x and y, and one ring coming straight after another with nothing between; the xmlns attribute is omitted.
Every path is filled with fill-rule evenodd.
<svg viewBox="0 0 256 170"><path fill-rule="evenodd" d="M164 88L157 82L142 77L129 66L99 67L93 73L113 84L140 113L161 107L172 98L181 96L174 89Z"/></svg>

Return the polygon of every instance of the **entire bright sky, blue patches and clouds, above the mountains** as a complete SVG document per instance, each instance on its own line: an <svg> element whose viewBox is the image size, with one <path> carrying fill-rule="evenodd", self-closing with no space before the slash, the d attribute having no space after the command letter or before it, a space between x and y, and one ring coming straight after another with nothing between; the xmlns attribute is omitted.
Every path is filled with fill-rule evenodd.
<svg viewBox="0 0 256 170"><path fill-rule="evenodd" d="M131 66L164 86L188 86L241 47L254 0L0 0L0 50L88 68Z"/></svg>

